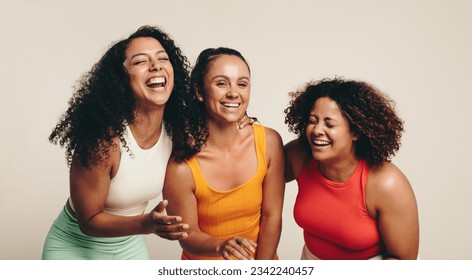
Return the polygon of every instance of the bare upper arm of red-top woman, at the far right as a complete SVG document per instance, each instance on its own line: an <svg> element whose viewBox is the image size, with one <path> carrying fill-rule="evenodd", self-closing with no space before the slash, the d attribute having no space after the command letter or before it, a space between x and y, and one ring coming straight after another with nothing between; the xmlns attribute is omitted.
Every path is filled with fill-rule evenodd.
<svg viewBox="0 0 472 280"><path fill-rule="evenodd" d="M386 259L416 259L419 246L418 209L408 179L392 163L386 163L371 173L366 200L369 212L373 212L371 216L377 218L387 250Z"/></svg>

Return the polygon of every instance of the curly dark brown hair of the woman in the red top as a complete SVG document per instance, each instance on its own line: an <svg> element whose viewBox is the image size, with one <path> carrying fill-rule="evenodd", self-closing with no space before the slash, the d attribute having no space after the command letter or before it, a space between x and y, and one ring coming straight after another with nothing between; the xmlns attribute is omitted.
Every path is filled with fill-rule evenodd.
<svg viewBox="0 0 472 280"><path fill-rule="evenodd" d="M369 83L344 78L312 81L289 93L292 100L284 110L289 132L298 135L300 143L310 150L305 129L310 111L320 97L334 100L358 136L354 142L356 156L370 166L380 166L400 148L403 121L395 113L395 103Z"/></svg>

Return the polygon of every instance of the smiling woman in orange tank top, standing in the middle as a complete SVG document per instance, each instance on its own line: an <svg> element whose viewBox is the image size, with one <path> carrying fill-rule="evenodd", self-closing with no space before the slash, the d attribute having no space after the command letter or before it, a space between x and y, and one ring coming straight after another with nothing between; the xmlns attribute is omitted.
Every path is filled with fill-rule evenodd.
<svg viewBox="0 0 472 280"><path fill-rule="evenodd" d="M280 135L237 121L249 105L244 57L206 49L191 74L192 143L176 149L163 195L167 211L187 223L182 259L277 259L282 227L284 153Z"/></svg>

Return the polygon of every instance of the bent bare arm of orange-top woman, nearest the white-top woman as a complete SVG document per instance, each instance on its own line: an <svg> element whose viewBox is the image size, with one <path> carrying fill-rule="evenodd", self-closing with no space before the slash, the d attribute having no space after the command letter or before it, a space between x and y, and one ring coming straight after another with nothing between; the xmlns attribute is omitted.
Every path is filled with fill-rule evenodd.
<svg viewBox="0 0 472 280"><path fill-rule="evenodd" d="M247 250L254 252L257 244L251 240L237 236L222 240L200 230L193 176L187 163L179 164L171 158L167 166L163 195L169 201L168 213L179 215L189 225L188 237L180 240L180 245L184 250L208 257L252 258Z"/></svg>

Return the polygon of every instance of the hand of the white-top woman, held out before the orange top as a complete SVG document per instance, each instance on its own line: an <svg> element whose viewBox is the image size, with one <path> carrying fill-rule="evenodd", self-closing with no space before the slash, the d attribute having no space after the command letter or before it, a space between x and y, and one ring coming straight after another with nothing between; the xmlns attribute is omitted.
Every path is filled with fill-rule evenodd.
<svg viewBox="0 0 472 280"><path fill-rule="evenodd" d="M167 204L168 201L163 200L151 211L152 233L168 240L187 238L188 233L185 230L189 228L189 225L181 223L182 218L180 216L167 216L164 213Z"/></svg>

